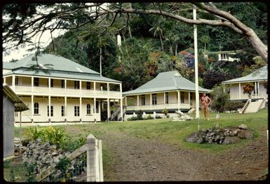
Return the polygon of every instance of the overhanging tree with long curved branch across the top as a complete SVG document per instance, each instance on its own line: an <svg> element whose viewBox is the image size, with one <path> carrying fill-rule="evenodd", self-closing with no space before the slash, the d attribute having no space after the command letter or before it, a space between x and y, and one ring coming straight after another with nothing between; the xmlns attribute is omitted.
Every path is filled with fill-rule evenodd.
<svg viewBox="0 0 270 184"><path fill-rule="evenodd" d="M226 4L226 3L223 3ZM266 32L255 32L255 28L252 25L248 25L248 22L243 22L241 17L236 17L227 10L222 10L223 4L212 3L152 3L142 4L144 6L137 6L134 4L130 6L124 6L123 3L115 4L6 4L3 8L3 43L4 51L8 48L27 44L31 41L31 38L36 34L55 29L78 29L87 24L92 24L97 21L95 29L89 30L90 32L96 32L97 29L107 29L112 26L116 18L121 18L123 14L130 15L160 15L166 18L171 18L177 22L185 22L191 25L211 25L228 27L237 34L242 35L250 41L250 44L264 60L267 61L267 47L264 44L266 40L261 40L259 37L266 34ZM136 6L135 6L136 5ZM232 5L238 5L234 3ZM184 6L187 9L197 8L198 17L193 20L189 13L184 13ZM266 16L265 4L248 3L246 6L251 7L251 11L259 10L257 13L259 16ZM221 7L221 8L217 8ZM40 10L46 11L40 11ZM237 11L242 11L240 8ZM205 17L208 15L208 18ZM107 25L102 24L103 20L106 20L109 16L113 17L112 21ZM243 16L244 17L244 16ZM258 22L254 22L255 25L266 24L265 18L261 18ZM266 38L266 37L264 37ZM264 41L264 42L263 42Z"/></svg>

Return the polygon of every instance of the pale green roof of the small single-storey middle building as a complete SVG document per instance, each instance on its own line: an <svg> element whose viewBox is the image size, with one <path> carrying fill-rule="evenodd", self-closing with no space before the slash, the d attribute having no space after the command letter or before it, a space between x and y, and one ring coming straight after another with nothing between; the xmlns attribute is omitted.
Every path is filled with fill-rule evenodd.
<svg viewBox="0 0 270 184"><path fill-rule="evenodd" d="M177 71L161 72L156 78L151 79L146 84L143 84L139 88L132 91L123 92L123 96L138 94L138 93L156 93L158 91L175 91L175 90L187 90L195 91L195 84L184 77L181 77ZM198 87L201 92L208 93L210 90L206 88Z"/></svg>

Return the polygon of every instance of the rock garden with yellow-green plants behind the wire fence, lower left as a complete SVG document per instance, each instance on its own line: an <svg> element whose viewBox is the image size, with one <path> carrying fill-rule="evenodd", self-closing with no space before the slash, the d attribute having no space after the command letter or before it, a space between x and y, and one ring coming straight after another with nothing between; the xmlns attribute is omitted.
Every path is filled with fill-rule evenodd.
<svg viewBox="0 0 270 184"><path fill-rule="evenodd" d="M56 171L43 181L81 181L81 176L86 175L86 152L74 160L67 157L85 140L71 140L65 131L55 127L29 129L26 135L21 153L22 162L29 170L29 178L34 179L36 174L43 173L50 166L55 166ZM16 143L15 153L19 150L20 144Z"/></svg>

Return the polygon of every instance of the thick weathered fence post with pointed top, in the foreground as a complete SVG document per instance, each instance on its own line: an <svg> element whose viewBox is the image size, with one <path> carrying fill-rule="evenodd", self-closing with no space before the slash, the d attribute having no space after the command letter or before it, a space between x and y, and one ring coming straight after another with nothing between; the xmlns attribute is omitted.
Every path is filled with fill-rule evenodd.
<svg viewBox="0 0 270 184"><path fill-rule="evenodd" d="M90 134L87 137L87 182L95 182L96 181L96 155L95 155L95 137Z"/></svg>

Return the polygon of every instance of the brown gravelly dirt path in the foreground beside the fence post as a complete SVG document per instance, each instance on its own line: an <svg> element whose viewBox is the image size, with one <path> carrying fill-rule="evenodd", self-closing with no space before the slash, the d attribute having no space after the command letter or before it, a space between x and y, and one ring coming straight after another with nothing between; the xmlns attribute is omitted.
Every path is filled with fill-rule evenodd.
<svg viewBox="0 0 270 184"><path fill-rule="evenodd" d="M257 180L268 168L266 136L220 155L179 149L124 133L106 133L101 139L116 157L105 181Z"/></svg>

